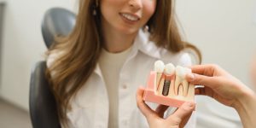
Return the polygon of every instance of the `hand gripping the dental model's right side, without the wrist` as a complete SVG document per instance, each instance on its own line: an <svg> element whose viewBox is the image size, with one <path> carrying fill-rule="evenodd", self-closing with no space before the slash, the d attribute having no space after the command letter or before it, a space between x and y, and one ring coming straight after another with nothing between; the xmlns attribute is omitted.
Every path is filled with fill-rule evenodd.
<svg viewBox="0 0 256 128"><path fill-rule="evenodd" d="M217 65L192 66L191 70L192 73L186 76L189 83L205 86L195 89L195 94L211 96L226 106L235 107L245 94L252 92Z"/></svg>

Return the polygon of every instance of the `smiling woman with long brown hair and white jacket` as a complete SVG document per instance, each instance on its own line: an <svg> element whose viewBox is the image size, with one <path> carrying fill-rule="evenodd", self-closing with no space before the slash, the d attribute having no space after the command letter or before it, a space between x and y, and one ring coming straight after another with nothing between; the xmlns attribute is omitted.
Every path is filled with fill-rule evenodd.
<svg viewBox="0 0 256 128"><path fill-rule="evenodd" d="M49 81L67 127L148 127L137 87L154 61L191 65L172 0L82 0L76 26L48 52Z"/></svg>

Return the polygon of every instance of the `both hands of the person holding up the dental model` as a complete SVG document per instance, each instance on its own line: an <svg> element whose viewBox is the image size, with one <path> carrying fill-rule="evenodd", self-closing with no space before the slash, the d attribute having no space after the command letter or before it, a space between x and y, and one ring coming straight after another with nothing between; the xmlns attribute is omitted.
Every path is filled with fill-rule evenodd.
<svg viewBox="0 0 256 128"><path fill-rule="evenodd" d="M187 75L187 80L192 84L205 86L196 89L195 94L210 96L226 106L235 108L241 118L243 127L256 127L256 94L253 90L247 88L240 80L231 76L230 73L227 73L224 69L216 65L192 66L191 69L193 73ZM143 96L143 90L139 89L137 91L137 105L148 119L148 124L152 125L152 128L183 126L189 118L189 113L191 113L195 107L193 103L190 107L188 103L184 103L183 106L172 115L173 119L161 119L159 113L164 113L165 109L162 109L161 112L154 112L143 102L141 96ZM180 109L183 110L183 113L178 112L181 111ZM177 113L179 115L177 115Z"/></svg>

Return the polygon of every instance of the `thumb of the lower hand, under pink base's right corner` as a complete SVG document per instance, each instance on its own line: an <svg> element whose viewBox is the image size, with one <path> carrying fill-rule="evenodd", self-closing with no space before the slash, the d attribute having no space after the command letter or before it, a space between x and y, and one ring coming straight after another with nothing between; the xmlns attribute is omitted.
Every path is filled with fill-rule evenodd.
<svg viewBox="0 0 256 128"><path fill-rule="evenodd" d="M181 123L183 119L185 119L187 116L190 116L190 114L195 109L195 103L194 102L184 102L183 105L177 109L175 113L173 113L171 116L169 116L168 120L175 120L177 123Z"/></svg>

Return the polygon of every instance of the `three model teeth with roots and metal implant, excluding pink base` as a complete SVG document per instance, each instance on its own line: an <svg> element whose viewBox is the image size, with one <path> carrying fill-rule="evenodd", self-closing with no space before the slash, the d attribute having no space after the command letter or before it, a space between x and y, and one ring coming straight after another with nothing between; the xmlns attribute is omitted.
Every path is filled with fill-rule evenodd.
<svg viewBox="0 0 256 128"><path fill-rule="evenodd" d="M187 67L174 67L172 63L165 65L163 61L154 62L154 71L156 72L155 85L156 90L162 96L168 96L170 91L176 96L187 96L189 83L185 79L191 69ZM174 82L174 87L171 87Z"/></svg>

